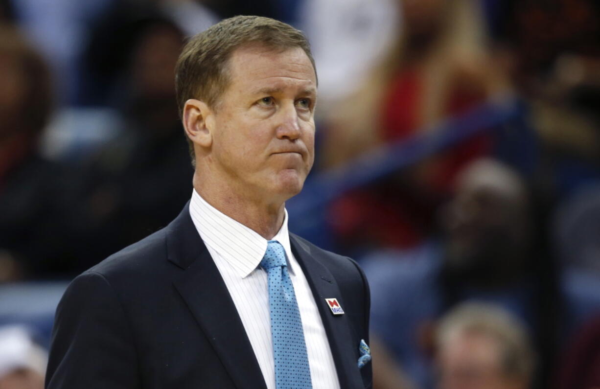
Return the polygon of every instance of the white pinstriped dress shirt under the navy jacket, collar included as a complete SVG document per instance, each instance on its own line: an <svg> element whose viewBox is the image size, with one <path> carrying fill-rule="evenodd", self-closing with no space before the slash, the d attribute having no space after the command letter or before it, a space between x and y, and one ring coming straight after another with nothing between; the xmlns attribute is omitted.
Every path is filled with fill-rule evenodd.
<svg viewBox="0 0 600 389"><path fill-rule="evenodd" d="M266 387L275 389L267 273L259 267L268 241L212 207L196 190L193 191L190 201L190 216L238 310L265 378ZM287 268L302 319L313 388L339 388L334 359L319 310L302 268L290 247L287 211L280 231L272 240L281 243L286 251Z"/></svg>

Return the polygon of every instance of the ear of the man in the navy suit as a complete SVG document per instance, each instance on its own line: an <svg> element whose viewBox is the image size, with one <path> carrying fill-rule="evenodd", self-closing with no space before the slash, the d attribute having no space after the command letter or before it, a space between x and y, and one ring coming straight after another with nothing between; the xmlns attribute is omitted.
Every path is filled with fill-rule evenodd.
<svg viewBox="0 0 600 389"><path fill-rule="evenodd" d="M190 98L185 101L182 116L187 137L199 146L210 147L214 131L212 109L204 101Z"/></svg>

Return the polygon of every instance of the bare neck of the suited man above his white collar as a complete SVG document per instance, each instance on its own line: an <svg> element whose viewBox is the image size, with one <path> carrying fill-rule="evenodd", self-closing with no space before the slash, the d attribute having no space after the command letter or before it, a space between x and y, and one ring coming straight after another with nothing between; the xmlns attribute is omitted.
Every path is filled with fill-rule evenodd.
<svg viewBox="0 0 600 389"><path fill-rule="evenodd" d="M204 176L206 177L206 176ZM194 190L202 198L236 222L255 231L266 240L271 239L281 229L285 217L285 202L258 201L244 196L235 188L223 187L222 182L208 182L202 175L194 173Z"/></svg>

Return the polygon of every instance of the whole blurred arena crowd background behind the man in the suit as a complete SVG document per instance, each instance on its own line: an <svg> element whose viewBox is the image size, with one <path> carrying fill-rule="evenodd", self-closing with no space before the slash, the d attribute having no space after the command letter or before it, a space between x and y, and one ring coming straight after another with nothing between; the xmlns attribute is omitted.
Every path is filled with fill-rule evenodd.
<svg viewBox="0 0 600 389"><path fill-rule="evenodd" d="M0 0L0 388L41 388L68 282L190 198L173 68L237 14L311 41L290 229L364 268L374 388L599 388L594 0Z"/></svg>

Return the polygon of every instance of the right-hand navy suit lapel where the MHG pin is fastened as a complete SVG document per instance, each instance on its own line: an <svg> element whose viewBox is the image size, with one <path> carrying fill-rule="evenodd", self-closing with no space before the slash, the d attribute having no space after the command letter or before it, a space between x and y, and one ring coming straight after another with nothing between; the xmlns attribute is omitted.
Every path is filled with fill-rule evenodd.
<svg viewBox="0 0 600 389"><path fill-rule="evenodd" d="M325 298L337 298L344 307L344 300L335 283L335 277L322 265L318 258L310 252L310 247L290 234L292 251L298 260L304 275L313 292L314 300L319 309L325 333L329 340L331 354L334 357L335 368L342 388L364 388L362 377L356 364L358 363L358 343L352 338L350 323L346 315L333 315Z"/></svg>

